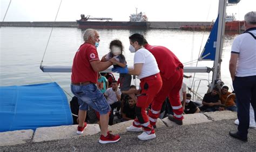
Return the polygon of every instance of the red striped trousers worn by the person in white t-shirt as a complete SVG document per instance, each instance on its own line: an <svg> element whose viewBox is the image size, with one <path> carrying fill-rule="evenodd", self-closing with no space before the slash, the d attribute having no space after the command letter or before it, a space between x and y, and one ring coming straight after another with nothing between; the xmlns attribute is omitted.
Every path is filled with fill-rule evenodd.
<svg viewBox="0 0 256 152"><path fill-rule="evenodd" d="M160 91L162 80L160 74L151 75L140 79L141 96L138 97L136 103L136 116L133 121L133 126L143 127L148 134L151 133L153 127L150 125L149 116L146 108L152 103L154 97Z"/></svg>

